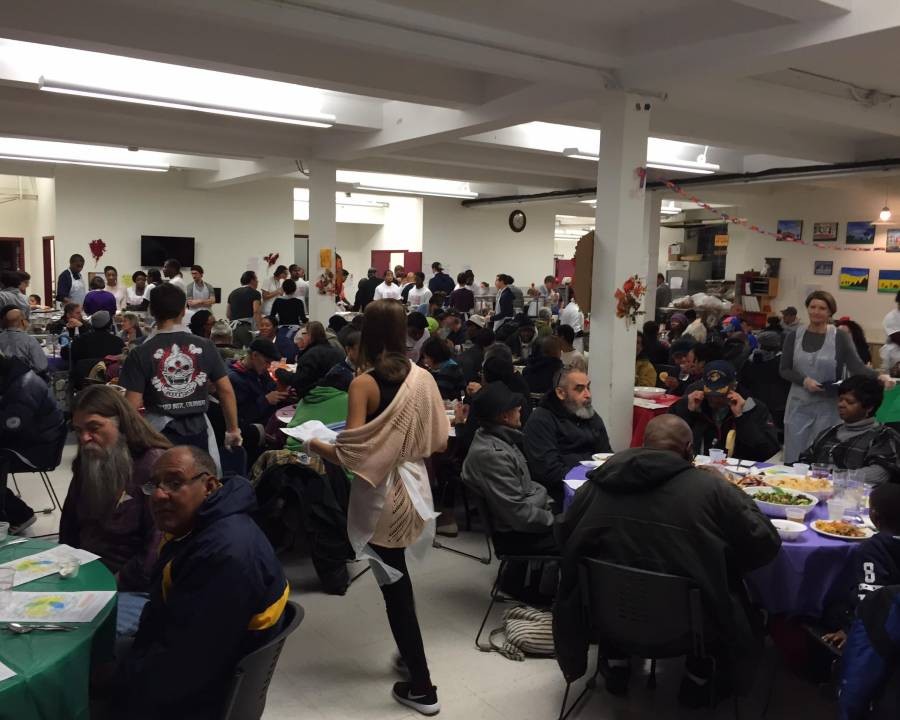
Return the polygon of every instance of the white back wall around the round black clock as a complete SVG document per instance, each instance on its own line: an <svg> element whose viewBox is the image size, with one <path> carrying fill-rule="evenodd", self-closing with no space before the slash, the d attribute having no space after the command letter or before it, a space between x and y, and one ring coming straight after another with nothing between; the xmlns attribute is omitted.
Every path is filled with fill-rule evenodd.
<svg viewBox="0 0 900 720"><path fill-rule="evenodd" d="M423 224L423 267L439 260L455 279L466 268L477 282L493 286L497 273L515 278L527 288L540 284L554 270L554 230L556 208L550 204L524 206L525 229L509 229L512 207L495 205L466 208L451 198L425 198Z"/></svg>

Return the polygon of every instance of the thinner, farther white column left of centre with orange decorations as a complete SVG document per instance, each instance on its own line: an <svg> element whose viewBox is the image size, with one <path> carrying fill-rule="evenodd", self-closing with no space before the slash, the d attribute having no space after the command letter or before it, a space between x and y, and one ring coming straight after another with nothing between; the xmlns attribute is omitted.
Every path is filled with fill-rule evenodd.
<svg viewBox="0 0 900 720"><path fill-rule="evenodd" d="M312 160L309 164L309 318L327 323L335 311L334 295L320 295L315 284L326 269L334 272L337 244L334 193L337 190L336 167L333 162ZM323 268L319 251L331 250L331 267Z"/></svg>

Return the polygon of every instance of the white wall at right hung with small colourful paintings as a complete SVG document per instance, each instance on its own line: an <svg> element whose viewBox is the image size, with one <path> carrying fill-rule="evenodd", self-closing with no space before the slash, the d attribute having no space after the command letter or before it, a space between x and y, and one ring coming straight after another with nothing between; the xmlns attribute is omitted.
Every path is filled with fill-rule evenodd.
<svg viewBox="0 0 900 720"><path fill-rule="evenodd" d="M847 221L871 220L878 216L884 203L884 190L866 189L859 182L848 181L842 187L811 187L779 183L771 193L755 193L744 196L730 195L737 199L734 214L746 217L751 223L775 231L778 220L803 220L803 240L812 241L813 223L838 222L838 240L828 243L837 248L845 247L844 237ZM703 194L701 194L703 195ZM724 197L724 194L722 195ZM704 197L705 199L705 197ZM729 210L729 212L731 212ZM838 317L849 315L866 331L873 342L883 338L881 321L894 307L894 294L879 293L878 271L880 269L900 270L900 253L850 252L817 249L811 245L777 242L774 238L760 235L739 225L729 227L728 259L726 277L733 278L745 270L763 269L763 258L780 257L781 273L778 298L775 309L787 305L801 309L810 289L821 288L832 293L837 301ZM886 229L879 226L875 233L874 247L884 247ZM850 246L873 247L873 246ZM817 276L813 274L816 260L834 262L834 274ZM870 269L867 292L839 290L838 279L841 267L863 267Z"/></svg>

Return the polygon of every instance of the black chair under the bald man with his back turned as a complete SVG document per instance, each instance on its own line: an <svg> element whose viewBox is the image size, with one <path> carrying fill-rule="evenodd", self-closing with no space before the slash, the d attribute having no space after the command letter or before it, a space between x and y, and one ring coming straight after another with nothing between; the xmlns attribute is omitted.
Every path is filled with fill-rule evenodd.
<svg viewBox="0 0 900 720"><path fill-rule="evenodd" d="M565 720L596 686L603 650L650 659L647 687L656 687L657 659L693 655L712 663L711 703L715 704L715 658L706 653L705 616L700 588L678 575L583 558L579 589L589 636L597 641L597 668L566 710L572 683L566 683L560 720Z"/></svg>

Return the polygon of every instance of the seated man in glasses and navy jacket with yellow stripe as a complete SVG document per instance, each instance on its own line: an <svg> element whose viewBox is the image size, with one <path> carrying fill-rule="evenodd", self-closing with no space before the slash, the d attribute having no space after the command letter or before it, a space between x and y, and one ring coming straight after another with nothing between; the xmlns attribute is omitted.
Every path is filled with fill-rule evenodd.
<svg viewBox="0 0 900 720"><path fill-rule="evenodd" d="M202 450L166 451L144 492L164 540L120 667L117 717L221 717L235 664L281 630L290 588L249 515L250 483L220 481Z"/></svg>

